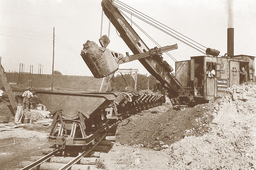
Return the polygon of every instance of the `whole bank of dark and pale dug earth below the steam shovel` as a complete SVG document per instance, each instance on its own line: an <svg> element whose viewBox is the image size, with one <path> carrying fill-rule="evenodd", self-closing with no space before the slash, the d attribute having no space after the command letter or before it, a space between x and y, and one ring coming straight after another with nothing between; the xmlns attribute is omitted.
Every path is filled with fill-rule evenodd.
<svg viewBox="0 0 256 170"><path fill-rule="evenodd" d="M133 115L119 124L117 141L160 152L166 169L256 169L255 113L256 85L234 85L194 108L163 104Z"/></svg>

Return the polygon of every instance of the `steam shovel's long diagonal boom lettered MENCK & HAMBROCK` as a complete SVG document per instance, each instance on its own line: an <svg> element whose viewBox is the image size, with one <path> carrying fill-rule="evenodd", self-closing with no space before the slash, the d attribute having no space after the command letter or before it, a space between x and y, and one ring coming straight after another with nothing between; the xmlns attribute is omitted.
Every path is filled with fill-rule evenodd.
<svg viewBox="0 0 256 170"><path fill-rule="evenodd" d="M101 2L104 14L120 33L121 38L130 48L133 54L140 54L150 51L135 30L125 20L113 0ZM139 62L154 76L168 92L168 97L175 99L174 104L189 103L193 101L190 89L183 88L175 76L171 75L168 69L169 64L163 61L162 57L144 57Z"/></svg>

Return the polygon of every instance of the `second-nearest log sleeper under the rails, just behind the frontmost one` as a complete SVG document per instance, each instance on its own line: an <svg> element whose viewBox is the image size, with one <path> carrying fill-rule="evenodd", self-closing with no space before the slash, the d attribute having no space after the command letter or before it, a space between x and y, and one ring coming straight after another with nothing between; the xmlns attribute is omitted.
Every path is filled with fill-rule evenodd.
<svg viewBox="0 0 256 170"><path fill-rule="evenodd" d="M38 159L41 159L43 156L31 156L30 161L37 161ZM50 162L53 163L68 163L70 162L74 157L64 157L64 156L53 156L50 159ZM81 158L80 163L81 165L95 165L98 158Z"/></svg>

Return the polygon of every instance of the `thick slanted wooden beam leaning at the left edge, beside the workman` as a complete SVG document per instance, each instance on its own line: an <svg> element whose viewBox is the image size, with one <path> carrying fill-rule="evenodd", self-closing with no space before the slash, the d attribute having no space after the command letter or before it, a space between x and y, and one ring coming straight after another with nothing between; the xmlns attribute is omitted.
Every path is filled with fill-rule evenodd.
<svg viewBox="0 0 256 170"><path fill-rule="evenodd" d="M10 103L11 103L11 107L13 109L14 112L11 112L13 116L15 116L15 113L17 111L17 108L18 108L18 103L14 97L14 94L11 90L11 87L9 85L9 82L8 82L8 79L7 77L5 76L5 71L4 71L4 68L0 62L0 79L2 81L2 84L5 88L5 91L6 91L6 94L8 95L8 98L10 100Z"/></svg>

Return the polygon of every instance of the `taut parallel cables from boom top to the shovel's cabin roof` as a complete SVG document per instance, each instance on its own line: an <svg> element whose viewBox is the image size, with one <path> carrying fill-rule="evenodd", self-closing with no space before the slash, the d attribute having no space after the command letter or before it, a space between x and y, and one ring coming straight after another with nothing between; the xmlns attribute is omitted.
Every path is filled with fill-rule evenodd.
<svg viewBox="0 0 256 170"><path fill-rule="evenodd" d="M118 1L118 0L116 0L117 1L117 3L119 2L119 3L122 3L122 2L120 2L120 1ZM117 5L117 4L116 4ZM123 3L122 4L120 4L120 5L123 5ZM129 14L132 14L130 11L128 11L127 9L125 9L125 8L123 8L123 7L121 7L120 5L117 5L117 7L118 8L120 8L120 9L123 9L123 10L125 10L126 12L128 12ZM124 4L125 5L125 4ZM123 5L123 6L124 6ZM126 6L128 6L128 5L126 5ZM126 6L124 6L124 7L126 7ZM129 7L129 8L128 8ZM149 16L147 16L147 15L145 15L145 14L143 14L143 13L141 13L141 12L139 12L139 11L137 11L136 9L134 9L134 8L132 8L132 7L130 7L130 6L128 6L128 7L126 7L126 8L128 8L129 10L131 10L131 11L133 11L133 12L135 12L135 13L137 13L137 14L139 14L141 17L143 17L143 18L146 18L146 17L148 17L148 18L150 18L150 19L148 19L148 18L146 18L147 20L149 20L149 21L151 21L151 22L153 22L153 23L155 23L154 21L156 21L156 20L154 20L154 19L152 19L151 17L149 17ZM131 8L131 9L130 9ZM135 11L134 11L135 10ZM137 11L137 12L136 12ZM142 14L143 15L145 15L146 17L144 17L144 16L142 16ZM136 16L135 14L133 14L134 16ZM139 17L139 16L136 16L137 18L139 18L139 19L141 19L141 20L143 20L144 22L146 22L146 23L149 23L149 21L146 21L145 19L142 19L141 17ZM154 20L154 21L152 21L152 20ZM169 29L171 29L170 27L168 27L168 26L166 26L166 25L164 25L164 24L162 24L162 23L160 23L160 22L158 22L158 21L156 21L157 23L155 23L155 24L157 24L158 26L160 26L160 27L162 27L162 28L164 28L164 29L166 29L166 30L168 30L167 28L169 28ZM158 23L160 23L161 25L159 25ZM152 26L154 26L152 23L149 23L150 25L152 25ZM163 26L165 26L165 27L167 27L167 28L165 28L165 27L163 27ZM156 26L154 26L154 27L156 27ZM158 27L156 27L156 28L158 28ZM158 29L160 29L160 28L158 28ZM160 29L160 30L162 30L162 29ZM171 29L171 30L173 30L173 31L175 31L174 29ZM168 30L169 32L171 32L170 30ZM175 31L175 32L177 32L177 31ZM178 36L177 34L175 34L174 32L171 32L171 33L173 33L174 35L176 35L176 36ZM179 33L179 32L177 32L178 34L180 34L180 35L182 35L182 36L184 36L183 34L181 34L181 33ZM170 35L170 34L169 34ZM173 35L171 35L171 36L173 36ZM182 38L181 36L178 36L178 37L180 37L181 39L179 39L179 38L177 38L177 37L175 37L175 36L173 36L174 38L176 38L176 39L178 39L179 41L181 41L181 42L183 42L183 43L185 43L184 41L182 41L181 39L184 39L184 38ZM186 37L186 36L184 36L184 37ZM186 37L187 39L190 39L190 38L188 38L188 37ZM189 42L188 40L186 40L186 39L184 39L185 41L187 41L187 42ZM193 42L195 42L194 40L192 40L192 39L190 39L191 41L193 41ZM196 46L196 47L198 47L197 45L195 45L195 44L193 44L192 42L189 42L189 43L191 43L192 45L194 45L194 46ZM196 42L197 44L199 44L198 42ZM185 43L185 44L187 44L187 43ZM188 44L187 44L188 45ZM199 45L201 45L201 44L199 44ZM190 45L189 45L190 46ZM203 46L203 45L201 45L201 46ZM192 47L192 46L190 46L190 47ZM203 46L204 48L206 48L205 46ZM193 47L192 47L193 48ZM198 47L198 48L200 48L200 47ZM194 49L196 49L196 48L194 48ZM200 49L202 49L202 48L200 48ZM197 49L198 50L198 49ZM202 49L203 50L203 49ZM198 50L199 51L199 50ZM200 51L200 52L202 52L202 51ZM203 52L202 52L203 53ZM205 54L205 53L203 53L203 54ZM207 55L207 54L205 54L205 55Z"/></svg>

